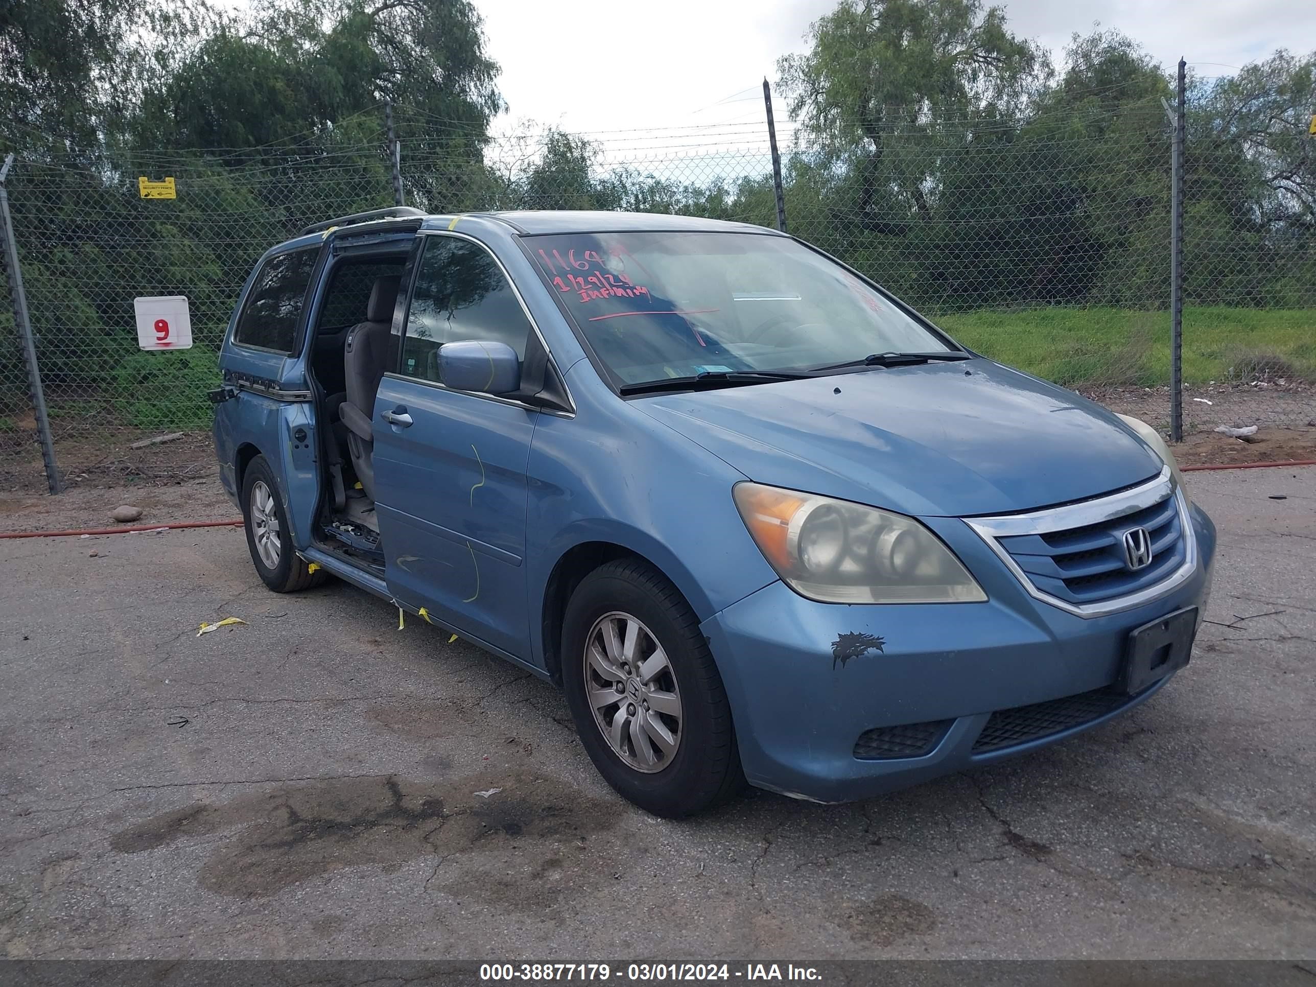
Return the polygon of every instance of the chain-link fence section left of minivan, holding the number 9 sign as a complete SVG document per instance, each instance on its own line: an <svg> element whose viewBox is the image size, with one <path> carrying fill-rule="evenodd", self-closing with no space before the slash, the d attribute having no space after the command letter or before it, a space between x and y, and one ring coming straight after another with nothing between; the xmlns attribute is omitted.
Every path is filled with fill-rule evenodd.
<svg viewBox="0 0 1316 987"><path fill-rule="evenodd" d="M174 178L178 197L142 199L138 175ZM255 259L312 218L392 201L379 149L257 166L150 161L113 172L22 164L9 196L50 430L68 483L168 479L172 463L143 474L132 443L209 428L218 347ZM149 295L187 296L192 349L138 350L133 299ZM34 487L42 463L12 308L0 318L8 320L0 475ZM184 467L208 468L187 438Z"/></svg>

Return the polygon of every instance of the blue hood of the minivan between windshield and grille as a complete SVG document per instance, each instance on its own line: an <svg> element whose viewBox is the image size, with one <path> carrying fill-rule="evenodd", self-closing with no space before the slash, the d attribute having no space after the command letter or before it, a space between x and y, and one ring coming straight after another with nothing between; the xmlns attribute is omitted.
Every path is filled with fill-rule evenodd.
<svg viewBox="0 0 1316 987"><path fill-rule="evenodd" d="M1071 391L986 359L655 395L633 405L751 480L907 515L995 515L1133 486L1161 461Z"/></svg>

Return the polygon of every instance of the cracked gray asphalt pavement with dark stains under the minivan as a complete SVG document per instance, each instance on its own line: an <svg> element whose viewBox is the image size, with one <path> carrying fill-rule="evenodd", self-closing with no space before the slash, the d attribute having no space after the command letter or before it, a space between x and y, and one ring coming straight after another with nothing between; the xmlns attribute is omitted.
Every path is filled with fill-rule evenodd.
<svg viewBox="0 0 1316 987"><path fill-rule="evenodd" d="M240 530L0 542L0 950L1316 958L1316 468L1188 486L1211 622L1149 703L686 822L612 794L551 686L342 583L270 594Z"/></svg>

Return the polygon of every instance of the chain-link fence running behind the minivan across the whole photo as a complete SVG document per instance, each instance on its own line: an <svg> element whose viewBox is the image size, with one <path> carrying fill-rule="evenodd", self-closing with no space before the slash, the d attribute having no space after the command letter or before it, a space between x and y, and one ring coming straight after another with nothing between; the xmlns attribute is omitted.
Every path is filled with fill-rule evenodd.
<svg viewBox="0 0 1316 987"><path fill-rule="evenodd" d="M1207 91L1198 99L1205 104ZM1187 117L1184 429L1316 417L1312 138ZM1220 108L1215 108L1220 109ZM400 146L407 203L434 212L633 209L776 225L763 124L544 132ZM380 114L382 118L382 114ZM1165 429L1170 142L1159 100L1024 124L891 128L861 142L782 125L788 229L990 357ZM457 150L454 150L454 147ZM171 176L178 197L142 199ZM8 190L59 468L70 483L209 468L217 351L255 259L308 222L392 204L383 134L313 151L20 161ZM0 292L5 292L0 282ZM195 345L137 349L133 299L186 295ZM0 478L43 488L13 309L0 307ZM188 433L157 474L132 443ZM192 433L199 437L193 438ZM191 442L191 445L187 445ZM183 457L186 458L186 457ZM143 472L145 470L145 472Z"/></svg>

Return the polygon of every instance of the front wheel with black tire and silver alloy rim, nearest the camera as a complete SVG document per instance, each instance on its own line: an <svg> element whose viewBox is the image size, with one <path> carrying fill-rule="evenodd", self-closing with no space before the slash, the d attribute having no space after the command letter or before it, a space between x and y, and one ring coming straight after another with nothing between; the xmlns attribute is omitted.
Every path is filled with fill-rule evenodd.
<svg viewBox="0 0 1316 987"><path fill-rule="evenodd" d="M587 575L563 615L561 654L576 733L619 794L682 819L742 788L721 675L695 612L657 570L619 559Z"/></svg>

